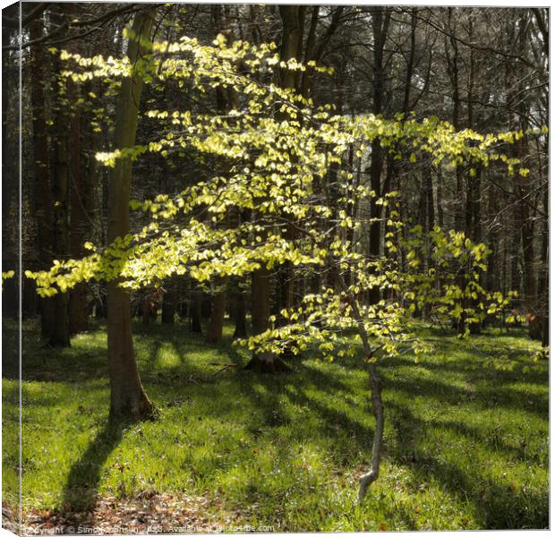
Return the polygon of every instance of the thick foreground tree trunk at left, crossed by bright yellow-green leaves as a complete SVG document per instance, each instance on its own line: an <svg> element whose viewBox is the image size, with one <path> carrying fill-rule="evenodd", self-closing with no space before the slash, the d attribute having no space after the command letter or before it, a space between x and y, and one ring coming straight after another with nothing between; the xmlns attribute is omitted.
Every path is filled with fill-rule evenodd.
<svg viewBox="0 0 555 537"><path fill-rule="evenodd" d="M122 80L115 118L115 149L135 144L139 104L141 102L141 70L136 69L147 53L140 42L150 38L154 8L135 15L127 55L133 66L132 76ZM119 158L108 186L108 242L129 234L129 200L132 162ZM127 291L118 286L118 280L107 283L107 337L110 365L112 419L140 419L151 416L155 409L145 394L133 351L131 303Z"/></svg>

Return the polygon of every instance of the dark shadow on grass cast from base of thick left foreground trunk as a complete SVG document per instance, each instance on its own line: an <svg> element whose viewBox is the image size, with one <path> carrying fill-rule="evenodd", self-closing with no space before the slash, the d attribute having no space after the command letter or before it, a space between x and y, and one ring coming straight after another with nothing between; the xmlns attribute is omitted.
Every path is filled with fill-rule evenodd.
<svg viewBox="0 0 555 537"><path fill-rule="evenodd" d="M64 508L89 511L96 503L102 467L124 436L125 422L107 421L81 458L73 464L64 486Z"/></svg>

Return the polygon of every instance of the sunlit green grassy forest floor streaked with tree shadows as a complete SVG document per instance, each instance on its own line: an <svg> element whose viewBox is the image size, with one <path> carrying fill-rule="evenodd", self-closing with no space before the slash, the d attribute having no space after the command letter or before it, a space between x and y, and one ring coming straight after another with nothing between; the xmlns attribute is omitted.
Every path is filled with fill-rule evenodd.
<svg viewBox="0 0 555 537"><path fill-rule="evenodd" d="M539 345L524 331L458 341L422 327L435 340L431 354L380 365L382 472L355 505L373 433L360 357L304 357L292 371L263 375L243 371L248 356L235 352L227 328L221 345L181 324L134 328L143 384L160 416L114 426L104 328L53 350L41 348L36 321L24 324L26 533L549 524L548 366L532 361ZM17 517L16 341L16 325L4 320L6 526Z"/></svg>

